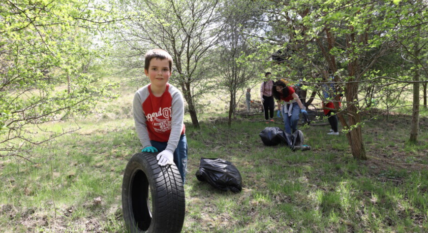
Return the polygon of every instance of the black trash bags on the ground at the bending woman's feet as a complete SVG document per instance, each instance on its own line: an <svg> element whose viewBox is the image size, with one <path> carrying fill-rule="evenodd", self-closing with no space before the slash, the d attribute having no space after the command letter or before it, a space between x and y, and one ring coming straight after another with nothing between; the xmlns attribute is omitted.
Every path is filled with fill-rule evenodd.
<svg viewBox="0 0 428 233"><path fill-rule="evenodd" d="M276 146L278 144L285 144L293 151L296 150L310 150L310 146L305 145L305 136L302 131L297 130L293 134L285 133L279 127L266 127L259 133L263 143L267 146Z"/></svg>

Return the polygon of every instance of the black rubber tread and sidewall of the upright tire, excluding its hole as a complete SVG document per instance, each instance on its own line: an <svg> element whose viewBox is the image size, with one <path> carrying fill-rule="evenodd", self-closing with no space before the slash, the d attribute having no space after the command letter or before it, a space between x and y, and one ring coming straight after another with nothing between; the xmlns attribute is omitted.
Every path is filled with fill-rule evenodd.
<svg viewBox="0 0 428 233"><path fill-rule="evenodd" d="M125 209L126 206L130 206L126 203L126 201L129 202L131 192L127 186L129 180L133 178L130 175L133 174L133 169L146 170L150 187L153 189L153 212L151 226L145 233L180 233L185 216L185 195L181 175L175 165L159 166L156 155L157 153L137 153L129 160L122 184L123 217L126 225L135 223L129 219L133 217L133 213ZM125 213L126 211L128 212ZM135 229L137 229L135 226L131 226L130 232L141 233L141 231L133 231Z"/></svg>

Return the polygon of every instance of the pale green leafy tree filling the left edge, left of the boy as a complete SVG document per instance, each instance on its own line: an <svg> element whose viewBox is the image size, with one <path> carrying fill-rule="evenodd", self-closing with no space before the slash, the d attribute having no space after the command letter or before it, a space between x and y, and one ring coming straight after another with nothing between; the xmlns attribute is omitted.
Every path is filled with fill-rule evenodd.
<svg viewBox="0 0 428 233"><path fill-rule="evenodd" d="M88 2L7 0L0 12L0 157L29 159L33 146L67 133L36 139L42 123L58 120L65 110L88 113L111 94L108 85L93 87L91 75L79 70L82 58L94 56L90 41L76 43L88 33L78 28L96 20ZM68 93L55 89L64 73L74 75Z"/></svg>

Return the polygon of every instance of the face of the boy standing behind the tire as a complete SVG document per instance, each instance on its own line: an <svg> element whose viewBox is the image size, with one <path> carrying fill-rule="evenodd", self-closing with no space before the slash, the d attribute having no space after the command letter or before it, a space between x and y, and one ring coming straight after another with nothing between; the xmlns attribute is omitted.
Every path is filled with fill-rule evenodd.
<svg viewBox="0 0 428 233"><path fill-rule="evenodd" d="M150 60L149 70L144 69L144 72L152 85L162 87L168 82L172 70L169 68L168 60L153 58Z"/></svg>

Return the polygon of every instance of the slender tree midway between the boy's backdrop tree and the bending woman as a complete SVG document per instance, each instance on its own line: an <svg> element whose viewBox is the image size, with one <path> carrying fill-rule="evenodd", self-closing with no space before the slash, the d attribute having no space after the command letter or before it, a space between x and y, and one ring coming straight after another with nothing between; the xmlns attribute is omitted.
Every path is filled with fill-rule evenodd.
<svg viewBox="0 0 428 233"><path fill-rule="evenodd" d="M256 78L259 70L257 63L243 61L250 54L255 53L247 39L248 35L242 33L251 28L250 18L254 5L246 1L226 1L223 15L224 34L219 47L215 50L218 54L214 57L215 70L218 73L221 90L227 91L229 96L228 126L232 124L232 116L236 115L238 91L245 93L245 87Z"/></svg>

